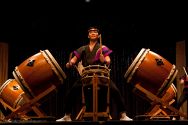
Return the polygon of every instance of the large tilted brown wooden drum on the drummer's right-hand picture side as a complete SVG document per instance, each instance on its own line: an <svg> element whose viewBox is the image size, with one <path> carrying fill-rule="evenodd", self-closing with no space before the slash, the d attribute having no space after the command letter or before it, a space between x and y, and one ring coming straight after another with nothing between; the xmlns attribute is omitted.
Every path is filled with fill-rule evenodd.
<svg viewBox="0 0 188 125"><path fill-rule="evenodd" d="M168 60L150 49L142 48L124 77L127 83L133 85L140 83L146 90L162 97L172 84L177 72L176 66Z"/></svg>

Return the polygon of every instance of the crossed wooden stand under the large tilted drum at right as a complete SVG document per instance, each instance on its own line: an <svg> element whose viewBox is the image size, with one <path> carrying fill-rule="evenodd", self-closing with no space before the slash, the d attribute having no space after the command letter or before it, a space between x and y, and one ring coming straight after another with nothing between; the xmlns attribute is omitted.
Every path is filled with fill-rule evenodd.
<svg viewBox="0 0 188 125"><path fill-rule="evenodd" d="M178 115L180 115L180 116L182 116L184 118L187 118L187 116L184 113L181 113L176 108L170 106L175 100L172 100L171 102L164 102L163 100L161 100L161 98L157 97L153 93L151 93L148 90L144 89L139 83L137 83L135 85L135 87L136 87L136 89L138 89L141 92L143 92L149 100L153 101L154 104L156 104L154 106L154 108L148 113L148 115L151 115L150 119L156 118L157 115L159 116L159 114L162 114L162 117L160 116L161 118L170 118L168 113L165 111L166 109L169 109L172 112L174 112L175 114L178 114ZM153 111L156 111L156 112L152 113Z"/></svg>

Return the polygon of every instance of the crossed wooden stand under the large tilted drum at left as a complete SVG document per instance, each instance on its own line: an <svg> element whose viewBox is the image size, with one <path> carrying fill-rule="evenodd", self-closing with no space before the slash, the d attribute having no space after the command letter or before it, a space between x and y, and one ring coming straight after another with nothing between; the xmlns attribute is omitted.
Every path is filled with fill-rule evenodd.
<svg viewBox="0 0 188 125"><path fill-rule="evenodd" d="M45 90L44 92L42 92L41 94L37 95L32 99L28 98L26 94L23 94L22 96L25 103L23 104L23 106L18 106L16 109L13 109L10 106L8 106L6 103L3 103L12 111L12 113L10 113L8 116L5 116L5 119L9 120L15 117L16 118L19 117L21 119L28 120L30 119L30 117L27 116L26 113L28 113L31 110L33 110L38 115L38 117L40 118L45 117L46 115L39 108L39 104L37 103L37 101L39 101L41 98L52 92L55 88L56 88L55 85L52 85L50 88L48 88L47 90Z"/></svg>

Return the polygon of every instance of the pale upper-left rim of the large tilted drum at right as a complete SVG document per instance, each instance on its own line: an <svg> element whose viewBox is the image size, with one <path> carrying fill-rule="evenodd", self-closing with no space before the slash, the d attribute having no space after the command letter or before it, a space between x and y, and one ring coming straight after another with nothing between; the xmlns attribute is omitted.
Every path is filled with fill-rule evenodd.
<svg viewBox="0 0 188 125"><path fill-rule="evenodd" d="M136 72L136 70L138 69L139 65L141 64L141 62L144 60L146 54L150 51L150 49L142 49L139 54L136 56L136 58L134 59L133 63L131 64L131 66L128 68L127 72L125 73L124 77L127 78L127 83L129 83L134 75L134 73ZM139 60L138 60L139 59ZM135 64L136 63L136 64ZM132 70L132 72L130 72L130 70Z"/></svg>

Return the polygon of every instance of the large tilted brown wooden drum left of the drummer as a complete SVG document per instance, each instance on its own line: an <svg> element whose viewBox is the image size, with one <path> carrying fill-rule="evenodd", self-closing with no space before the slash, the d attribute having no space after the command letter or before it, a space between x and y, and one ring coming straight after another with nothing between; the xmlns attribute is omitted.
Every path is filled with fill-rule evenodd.
<svg viewBox="0 0 188 125"><path fill-rule="evenodd" d="M41 94L52 85L58 87L66 78L49 50L41 50L16 66L13 76L26 95L31 97Z"/></svg>

